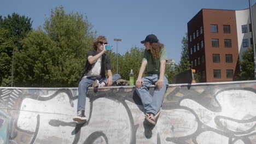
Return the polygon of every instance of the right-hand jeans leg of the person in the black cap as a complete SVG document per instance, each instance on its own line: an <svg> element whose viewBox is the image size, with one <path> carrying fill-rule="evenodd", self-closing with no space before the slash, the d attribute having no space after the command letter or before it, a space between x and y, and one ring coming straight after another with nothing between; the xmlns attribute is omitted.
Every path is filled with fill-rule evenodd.
<svg viewBox="0 0 256 144"><path fill-rule="evenodd" d="M159 80L159 75L154 75L153 80L154 80L154 83L157 82ZM164 96L165 96L167 84L168 84L168 80L164 76L164 83L162 84L162 88L159 89L158 87L155 87L154 89L153 98L151 103L148 106L147 112L154 113L154 115L158 113L162 105L162 100L164 99Z"/></svg>

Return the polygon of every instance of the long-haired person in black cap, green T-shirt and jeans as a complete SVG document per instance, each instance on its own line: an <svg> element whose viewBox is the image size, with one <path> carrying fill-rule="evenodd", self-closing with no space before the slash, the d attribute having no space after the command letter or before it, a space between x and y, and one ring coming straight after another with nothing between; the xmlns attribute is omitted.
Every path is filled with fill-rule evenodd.
<svg viewBox="0 0 256 144"><path fill-rule="evenodd" d="M149 34L141 43L144 44L146 50L136 81L136 92L142 100L144 109L146 109L145 118L149 123L155 125L155 119L160 114L162 100L168 85L165 77L166 47L159 43L154 34ZM147 76L142 78L147 65ZM156 86L153 95L148 91L150 85Z"/></svg>

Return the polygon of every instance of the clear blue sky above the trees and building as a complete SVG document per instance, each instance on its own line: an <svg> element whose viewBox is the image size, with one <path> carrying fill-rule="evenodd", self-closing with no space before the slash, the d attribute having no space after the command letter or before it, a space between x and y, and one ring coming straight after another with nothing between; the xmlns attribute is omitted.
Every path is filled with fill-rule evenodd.
<svg viewBox="0 0 256 144"><path fill-rule="evenodd" d="M256 0L251 0L252 5ZM31 17L33 28L43 26L51 9L62 5L66 13L71 11L86 14L98 35L105 35L113 51L117 43L113 39L122 39L118 43L118 52L123 55L131 47L143 47L140 43L148 34L155 34L160 43L167 48L167 58L180 61L182 38L187 32L187 22L205 9L241 10L249 8L248 0L22 0L2 1L0 15L18 13Z"/></svg>

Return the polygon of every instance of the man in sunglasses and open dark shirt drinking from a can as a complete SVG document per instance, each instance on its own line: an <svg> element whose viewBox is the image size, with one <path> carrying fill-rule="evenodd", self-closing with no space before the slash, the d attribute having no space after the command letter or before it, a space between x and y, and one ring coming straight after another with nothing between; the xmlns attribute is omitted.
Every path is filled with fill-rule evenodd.
<svg viewBox="0 0 256 144"><path fill-rule="evenodd" d="M87 121L84 113L88 87L111 86L113 82L121 79L119 74L114 74L112 76L110 58L105 53L107 51L105 49L107 44L106 37L99 36L94 41L94 50L89 50L87 53L85 70L78 86L77 116L73 118L73 121ZM105 75L106 70L108 79Z"/></svg>

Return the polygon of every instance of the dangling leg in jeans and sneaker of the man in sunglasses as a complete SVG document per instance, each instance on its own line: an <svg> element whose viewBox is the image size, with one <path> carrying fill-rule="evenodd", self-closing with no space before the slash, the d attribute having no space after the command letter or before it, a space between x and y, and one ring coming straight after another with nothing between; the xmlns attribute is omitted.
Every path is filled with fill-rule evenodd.
<svg viewBox="0 0 256 144"><path fill-rule="evenodd" d="M79 82L78 85L78 102L77 102L77 116L73 118L74 121L86 121L87 118L84 115L86 92L88 87L94 82L95 77L86 77Z"/></svg>

